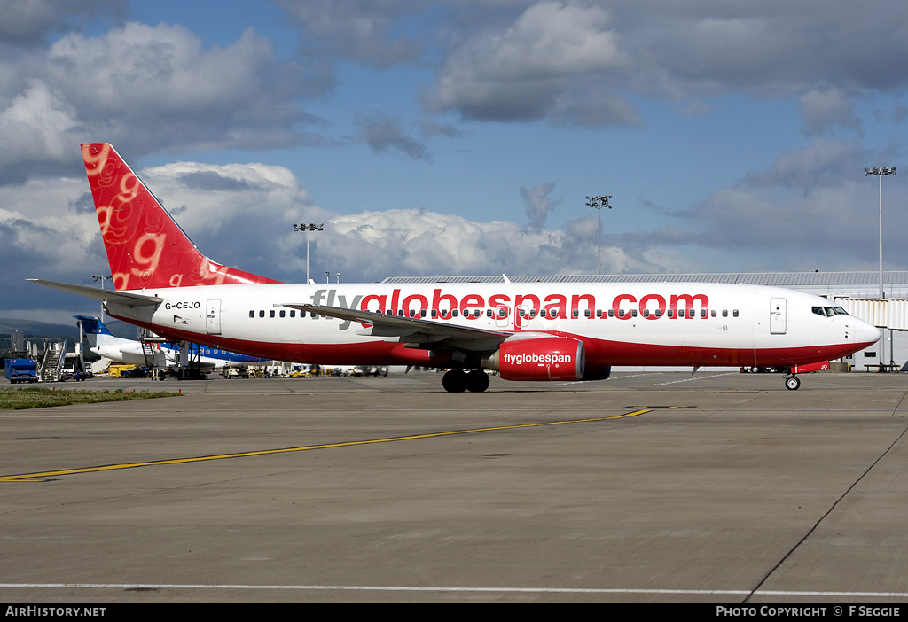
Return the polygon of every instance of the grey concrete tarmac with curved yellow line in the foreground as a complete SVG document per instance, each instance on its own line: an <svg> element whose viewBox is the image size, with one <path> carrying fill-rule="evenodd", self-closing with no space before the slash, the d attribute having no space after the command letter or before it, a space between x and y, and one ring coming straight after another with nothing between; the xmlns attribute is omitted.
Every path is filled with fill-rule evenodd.
<svg viewBox="0 0 908 622"><path fill-rule="evenodd" d="M802 381L57 385L182 395L0 411L0 599L904 603L908 375Z"/></svg>

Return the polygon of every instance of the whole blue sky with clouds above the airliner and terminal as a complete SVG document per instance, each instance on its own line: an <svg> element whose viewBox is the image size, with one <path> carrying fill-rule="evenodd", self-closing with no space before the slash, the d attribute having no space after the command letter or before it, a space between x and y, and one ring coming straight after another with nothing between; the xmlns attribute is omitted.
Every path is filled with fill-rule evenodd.
<svg viewBox="0 0 908 622"><path fill-rule="evenodd" d="M873 11L867 10L867 7ZM871 270L908 4L0 0L0 317L110 273L79 143L215 261L311 277ZM902 176L885 269L908 269ZM587 207L608 195L612 209ZM109 287L109 284L107 285Z"/></svg>

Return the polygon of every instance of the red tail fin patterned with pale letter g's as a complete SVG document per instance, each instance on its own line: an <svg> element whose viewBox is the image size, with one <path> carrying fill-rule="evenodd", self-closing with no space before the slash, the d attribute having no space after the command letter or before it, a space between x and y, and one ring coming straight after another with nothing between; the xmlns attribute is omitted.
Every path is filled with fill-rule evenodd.
<svg viewBox="0 0 908 622"><path fill-rule="evenodd" d="M199 252L113 145L82 145L94 209L117 289L279 283Z"/></svg>

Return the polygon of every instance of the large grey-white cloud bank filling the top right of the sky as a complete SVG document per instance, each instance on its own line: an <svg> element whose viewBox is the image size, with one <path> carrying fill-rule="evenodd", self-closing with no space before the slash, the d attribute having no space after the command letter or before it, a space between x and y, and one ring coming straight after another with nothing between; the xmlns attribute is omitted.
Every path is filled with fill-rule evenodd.
<svg viewBox="0 0 908 622"><path fill-rule="evenodd" d="M463 3L468 25L449 38L423 103L465 119L595 127L639 123L634 98L745 92L802 97L809 133L857 131L844 92L908 85L908 6L883 5L544 0L480 12Z"/></svg>

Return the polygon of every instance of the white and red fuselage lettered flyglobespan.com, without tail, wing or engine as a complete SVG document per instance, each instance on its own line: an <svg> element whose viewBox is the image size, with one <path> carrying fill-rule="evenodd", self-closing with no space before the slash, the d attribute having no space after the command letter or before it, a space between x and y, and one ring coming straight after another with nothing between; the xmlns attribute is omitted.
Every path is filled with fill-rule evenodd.
<svg viewBox="0 0 908 622"><path fill-rule="evenodd" d="M572 336L598 365L791 365L851 354L879 331L826 315L820 296L705 283L228 285L148 288L157 306L108 303L108 313L174 339L245 355L318 364L412 363L405 336L312 316L322 305L509 334ZM817 308L821 311L817 312ZM427 347L423 345L422 347ZM457 347L455 345L455 347ZM419 352L419 350L416 350Z"/></svg>

